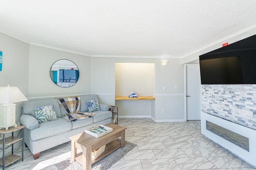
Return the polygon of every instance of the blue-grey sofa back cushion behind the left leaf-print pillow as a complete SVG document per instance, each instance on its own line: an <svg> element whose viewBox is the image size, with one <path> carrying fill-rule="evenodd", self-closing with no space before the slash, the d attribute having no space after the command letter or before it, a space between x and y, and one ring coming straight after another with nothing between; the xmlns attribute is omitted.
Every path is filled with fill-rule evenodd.
<svg viewBox="0 0 256 170"><path fill-rule="evenodd" d="M58 100L56 98L25 101L23 102L22 114L30 114L33 117L36 117L34 108L47 105L53 105L57 117L62 117L60 111L60 104L58 103Z"/></svg>

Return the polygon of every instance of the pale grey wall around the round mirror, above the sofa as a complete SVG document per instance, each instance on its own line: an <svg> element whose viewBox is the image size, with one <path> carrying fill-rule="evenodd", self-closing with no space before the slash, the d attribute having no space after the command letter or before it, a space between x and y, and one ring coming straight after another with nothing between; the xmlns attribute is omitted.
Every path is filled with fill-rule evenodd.
<svg viewBox="0 0 256 170"><path fill-rule="evenodd" d="M67 59L79 69L79 79L74 86L57 86L50 78L50 68L60 59ZM29 57L29 98L72 96L90 94L91 58L83 55L30 45Z"/></svg>

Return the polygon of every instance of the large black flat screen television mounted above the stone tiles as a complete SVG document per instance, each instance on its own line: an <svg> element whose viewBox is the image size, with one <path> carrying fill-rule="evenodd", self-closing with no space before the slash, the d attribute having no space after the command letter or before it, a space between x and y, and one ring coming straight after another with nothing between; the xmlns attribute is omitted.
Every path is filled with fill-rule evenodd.
<svg viewBox="0 0 256 170"><path fill-rule="evenodd" d="M199 56L201 84L256 84L256 35Z"/></svg>

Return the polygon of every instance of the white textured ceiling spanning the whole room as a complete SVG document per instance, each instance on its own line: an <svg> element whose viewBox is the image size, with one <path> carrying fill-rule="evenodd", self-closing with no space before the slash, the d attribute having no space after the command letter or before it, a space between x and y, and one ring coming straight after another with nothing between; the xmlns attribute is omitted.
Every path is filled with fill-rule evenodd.
<svg viewBox="0 0 256 170"><path fill-rule="evenodd" d="M0 0L0 31L89 56L185 57L256 25L256 0Z"/></svg>

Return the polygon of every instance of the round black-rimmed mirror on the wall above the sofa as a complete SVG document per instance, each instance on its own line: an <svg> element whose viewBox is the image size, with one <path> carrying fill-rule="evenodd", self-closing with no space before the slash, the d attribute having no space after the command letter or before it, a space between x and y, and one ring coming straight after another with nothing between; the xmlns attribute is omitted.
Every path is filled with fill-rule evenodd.
<svg viewBox="0 0 256 170"><path fill-rule="evenodd" d="M50 69L52 81L60 87L70 87L76 84L79 70L75 63L69 60L59 60Z"/></svg>

